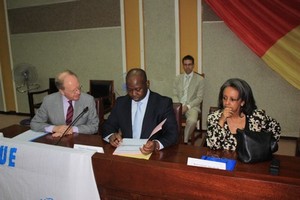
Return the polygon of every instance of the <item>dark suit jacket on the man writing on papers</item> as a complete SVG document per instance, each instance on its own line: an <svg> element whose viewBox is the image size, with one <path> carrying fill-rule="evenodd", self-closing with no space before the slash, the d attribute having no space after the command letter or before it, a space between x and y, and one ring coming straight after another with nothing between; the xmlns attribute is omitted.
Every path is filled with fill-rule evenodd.
<svg viewBox="0 0 300 200"><path fill-rule="evenodd" d="M173 102L169 97L161 96L150 91L147 108L143 120L141 139L150 136L152 130L166 119L162 130L155 134L151 140L157 139L164 147L177 143L177 122L173 110ZM131 98L126 95L119 97L110 116L104 124L103 138L112 133L122 132L123 138L132 138Z"/></svg>

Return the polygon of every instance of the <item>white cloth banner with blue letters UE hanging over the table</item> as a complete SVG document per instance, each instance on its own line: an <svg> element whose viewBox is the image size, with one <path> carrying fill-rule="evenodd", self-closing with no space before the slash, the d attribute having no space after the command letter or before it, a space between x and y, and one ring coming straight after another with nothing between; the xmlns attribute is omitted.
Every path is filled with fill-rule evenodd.
<svg viewBox="0 0 300 200"><path fill-rule="evenodd" d="M1 138L0 199L100 199L94 153Z"/></svg>

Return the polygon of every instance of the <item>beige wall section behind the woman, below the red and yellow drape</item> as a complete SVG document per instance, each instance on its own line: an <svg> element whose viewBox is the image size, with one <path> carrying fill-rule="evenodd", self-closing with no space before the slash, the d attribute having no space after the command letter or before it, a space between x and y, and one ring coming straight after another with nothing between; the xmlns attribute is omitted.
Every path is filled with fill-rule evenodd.
<svg viewBox="0 0 300 200"><path fill-rule="evenodd" d="M220 86L229 78L242 78L251 86L258 108L280 122L282 134L299 137L300 91L271 70L223 22L203 24L203 68L204 116L210 106L217 106Z"/></svg>

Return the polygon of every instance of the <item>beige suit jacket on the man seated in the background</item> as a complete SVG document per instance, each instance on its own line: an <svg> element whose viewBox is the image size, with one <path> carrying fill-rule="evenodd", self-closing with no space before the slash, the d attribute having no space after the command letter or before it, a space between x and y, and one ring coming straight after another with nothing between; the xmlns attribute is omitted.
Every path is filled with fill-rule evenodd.
<svg viewBox="0 0 300 200"><path fill-rule="evenodd" d="M188 93L187 93L187 105L191 108L195 108L200 111L200 103L203 101L204 95L204 78L199 74L193 72L193 77L190 81ZM173 84L173 102L180 102L184 91L183 91L183 81L184 75L180 74L176 76Z"/></svg>

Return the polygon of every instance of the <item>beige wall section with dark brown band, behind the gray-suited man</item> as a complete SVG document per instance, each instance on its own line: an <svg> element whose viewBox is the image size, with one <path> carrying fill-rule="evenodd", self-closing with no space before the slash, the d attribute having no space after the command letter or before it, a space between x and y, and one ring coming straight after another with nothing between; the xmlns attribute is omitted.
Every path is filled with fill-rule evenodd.
<svg viewBox="0 0 300 200"><path fill-rule="evenodd" d="M8 4L13 68L22 63L35 66L40 89L64 69L78 74L86 92L90 79L121 84L120 1L26 3ZM16 98L17 112L28 113L27 94L16 92Z"/></svg>

